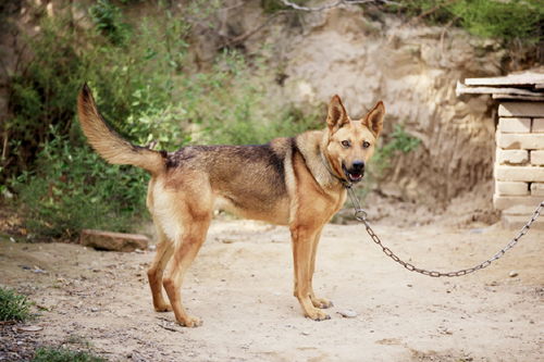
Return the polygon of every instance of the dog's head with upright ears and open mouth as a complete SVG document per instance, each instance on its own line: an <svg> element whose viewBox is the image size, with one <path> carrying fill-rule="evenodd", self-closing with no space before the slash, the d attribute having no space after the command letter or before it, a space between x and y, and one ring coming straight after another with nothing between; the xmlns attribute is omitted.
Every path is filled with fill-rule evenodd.
<svg viewBox="0 0 544 362"><path fill-rule="evenodd" d="M378 102L360 120L353 121L338 96L329 104L327 145L325 157L336 176L357 183L364 175L364 165L374 153L383 127L385 107Z"/></svg>

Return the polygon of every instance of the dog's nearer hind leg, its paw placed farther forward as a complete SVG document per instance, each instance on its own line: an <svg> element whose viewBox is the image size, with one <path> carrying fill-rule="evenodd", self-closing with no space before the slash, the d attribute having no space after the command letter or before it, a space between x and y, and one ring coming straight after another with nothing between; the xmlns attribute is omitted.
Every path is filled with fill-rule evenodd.
<svg viewBox="0 0 544 362"><path fill-rule="evenodd" d="M175 240L171 267L169 267L169 273L163 280L163 285L176 321L187 327L197 327L202 324L201 321L189 316L183 307L182 283L206 239L212 216L212 207L203 209L202 204L187 204L185 210L183 232L178 240Z"/></svg>

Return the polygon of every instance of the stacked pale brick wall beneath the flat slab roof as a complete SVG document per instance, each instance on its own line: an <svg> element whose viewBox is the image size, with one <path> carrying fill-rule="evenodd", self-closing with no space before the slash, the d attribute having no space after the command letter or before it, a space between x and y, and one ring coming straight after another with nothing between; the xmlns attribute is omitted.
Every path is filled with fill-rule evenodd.
<svg viewBox="0 0 544 362"><path fill-rule="evenodd" d="M517 226L544 200L544 102L504 102L498 116L493 202Z"/></svg>

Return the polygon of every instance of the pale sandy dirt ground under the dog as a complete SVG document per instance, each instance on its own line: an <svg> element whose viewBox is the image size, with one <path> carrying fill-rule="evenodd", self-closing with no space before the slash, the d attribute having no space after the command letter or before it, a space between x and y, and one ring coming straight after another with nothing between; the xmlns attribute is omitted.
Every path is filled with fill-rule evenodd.
<svg viewBox="0 0 544 362"><path fill-rule="evenodd" d="M448 225L382 220L375 229L403 258L443 271L472 266L515 235ZM327 225L314 287L334 307L330 321L313 322L292 294L287 229L215 221L183 290L203 325L183 328L151 308L152 251L4 237L0 284L35 301L41 316L29 324L42 330L14 335L7 333L14 326L0 326L2 344L83 346L111 361L544 361L543 240L544 232L531 230L483 271L431 278L386 258L362 226ZM343 317L345 310L357 316Z"/></svg>

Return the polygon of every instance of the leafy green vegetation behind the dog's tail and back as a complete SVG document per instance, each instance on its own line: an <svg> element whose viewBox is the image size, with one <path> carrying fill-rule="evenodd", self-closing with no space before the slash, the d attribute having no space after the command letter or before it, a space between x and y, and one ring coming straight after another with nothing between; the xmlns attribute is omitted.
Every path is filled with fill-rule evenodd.
<svg viewBox="0 0 544 362"><path fill-rule="evenodd" d="M190 24L166 5L127 25L121 8L99 0L90 18L95 26L82 30L70 17L45 16L41 32L27 39L34 59L13 78L2 177L35 236L74 238L84 227L128 232L147 217L148 175L109 165L86 145L75 115L85 80L120 134L158 149L260 143L314 124L312 115L267 101L259 59L224 51L211 70L187 72Z"/></svg>

